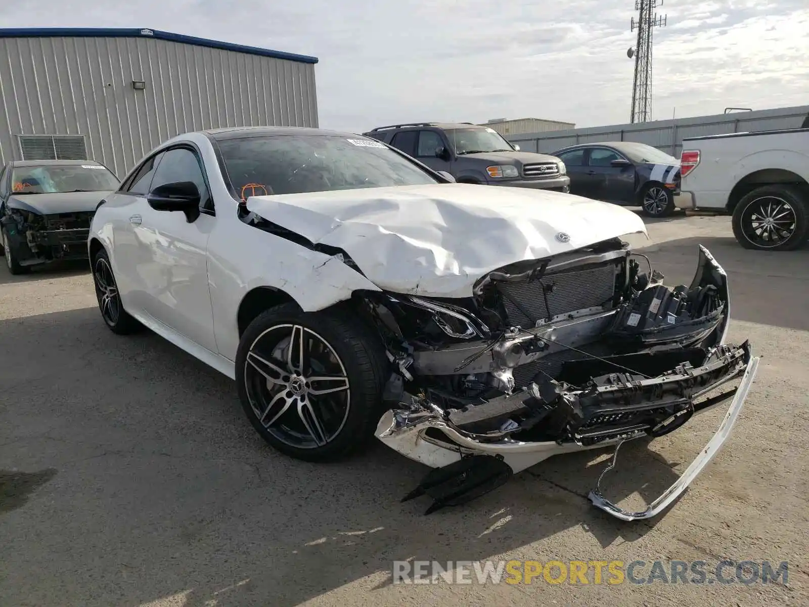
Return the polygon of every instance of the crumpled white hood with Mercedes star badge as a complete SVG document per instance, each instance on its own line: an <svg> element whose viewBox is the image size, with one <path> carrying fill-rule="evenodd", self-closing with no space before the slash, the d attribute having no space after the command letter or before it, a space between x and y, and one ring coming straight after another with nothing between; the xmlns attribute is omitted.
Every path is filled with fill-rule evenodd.
<svg viewBox="0 0 809 607"><path fill-rule="evenodd" d="M646 234L637 214L607 202L486 185L282 194L247 204L313 243L343 249L380 289L435 297L470 297L478 278L516 261Z"/></svg>

